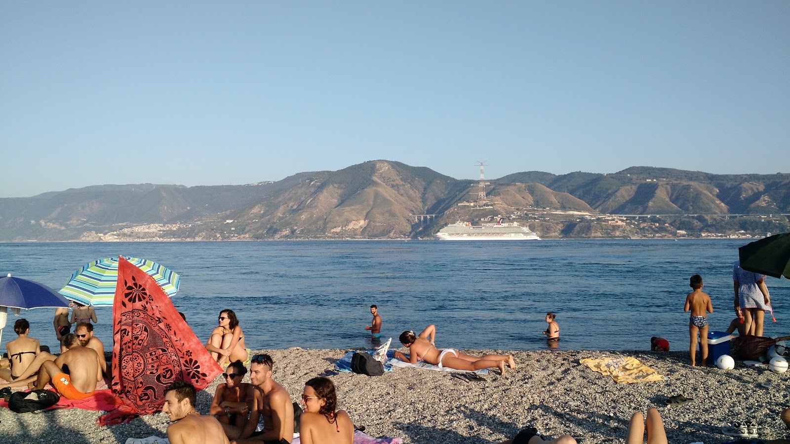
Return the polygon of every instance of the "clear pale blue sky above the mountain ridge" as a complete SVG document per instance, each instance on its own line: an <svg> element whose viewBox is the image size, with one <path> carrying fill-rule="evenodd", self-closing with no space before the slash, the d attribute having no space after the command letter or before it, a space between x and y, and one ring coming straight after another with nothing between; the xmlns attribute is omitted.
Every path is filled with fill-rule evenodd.
<svg viewBox="0 0 790 444"><path fill-rule="evenodd" d="M790 2L2 2L0 197L279 180L790 172Z"/></svg>

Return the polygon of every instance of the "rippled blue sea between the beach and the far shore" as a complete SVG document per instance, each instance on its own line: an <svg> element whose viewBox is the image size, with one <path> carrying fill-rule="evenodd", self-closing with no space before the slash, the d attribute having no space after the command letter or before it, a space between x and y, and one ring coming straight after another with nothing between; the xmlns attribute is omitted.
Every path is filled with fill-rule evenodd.
<svg viewBox="0 0 790 444"><path fill-rule="evenodd" d="M371 346L364 330L375 303L383 337L436 324L453 348L540 350L547 311L561 349L644 349L651 336L688 347L683 302L702 274L712 329L732 313L732 262L744 240L544 240L539 242L0 243L0 273L62 288L97 258L133 256L181 275L171 300L201 341L221 309L235 310L250 348ZM769 278L777 323L790 334L790 284ZM112 341L111 308L96 310L96 334ZM54 347L54 310L22 311L31 337ZM5 343L16 335L9 322ZM109 346L106 345L109 349Z"/></svg>

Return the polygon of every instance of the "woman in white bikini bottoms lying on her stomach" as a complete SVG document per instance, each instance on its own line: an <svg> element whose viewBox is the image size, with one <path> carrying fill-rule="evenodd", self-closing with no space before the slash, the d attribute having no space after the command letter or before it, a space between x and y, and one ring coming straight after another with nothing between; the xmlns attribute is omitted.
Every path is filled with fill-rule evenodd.
<svg viewBox="0 0 790 444"><path fill-rule="evenodd" d="M428 325L419 336L412 330L401 333L401 344L409 349L409 356L401 352L395 352L395 357L407 363L416 364L417 361L425 361L438 367L454 368L456 370L475 371L483 368L499 369L499 373L505 374L505 362L510 368L516 368L513 356L510 355L486 355L480 358L468 356L464 353L445 348L439 350L434 345L436 339L436 326Z"/></svg>

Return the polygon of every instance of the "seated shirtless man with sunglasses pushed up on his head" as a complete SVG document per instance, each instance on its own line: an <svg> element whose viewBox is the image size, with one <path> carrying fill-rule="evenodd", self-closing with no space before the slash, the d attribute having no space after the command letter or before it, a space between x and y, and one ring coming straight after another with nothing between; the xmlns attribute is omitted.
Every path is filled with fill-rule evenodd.
<svg viewBox="0 0 790 444"><path fill-rule="evenodd" d="M255 355L250 362L250 381L255 390L250 420L236 438L236 444L264 442L264 444L290 444L294 436L294 408L288 392L272 379L274 363L269 355ZM256 432L258 420L263 416L263 430ZM225 424L225 431L234 430Z"/></svg>

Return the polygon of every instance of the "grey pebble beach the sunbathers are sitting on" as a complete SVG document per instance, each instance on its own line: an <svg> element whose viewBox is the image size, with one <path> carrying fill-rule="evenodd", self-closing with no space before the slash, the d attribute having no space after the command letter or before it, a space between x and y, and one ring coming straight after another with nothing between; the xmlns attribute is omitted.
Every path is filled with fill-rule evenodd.
<svg viewBox="0 0 790 444"><path fill-rule="evenodd" d="M340 408L373 437L398 437L406 443L483 444L512 438L524 427L544 435L574 436L578 442L624 442L633 412L656 407L669 442L724 442L721 427L735 420L758 421L760 438L786 438L779 419L788 407L790 373L744 368L689 367L687 352L512 352L516 370L490 371L485 381L464 382L449 372L394 368L383 376L338 373L334 363L346 350L289 348L259 350L274 359L273 378L292 400L307 379L329 376L337 386ZM472 355L511 354L502 350L465 351ZM633 356L667 377L661 382L615 383L579 363L584 358ZM245 376L249 382L249 376ZM763 382L772 384L770 389ZM208 412L216 386L198 393L198 411ZM668 407L682 394L694 402ZM16 414L0 409L0 442L125 443L127 438L165 437L164 414L130 423L99 427L100 412L62 409Z"/></svg>

